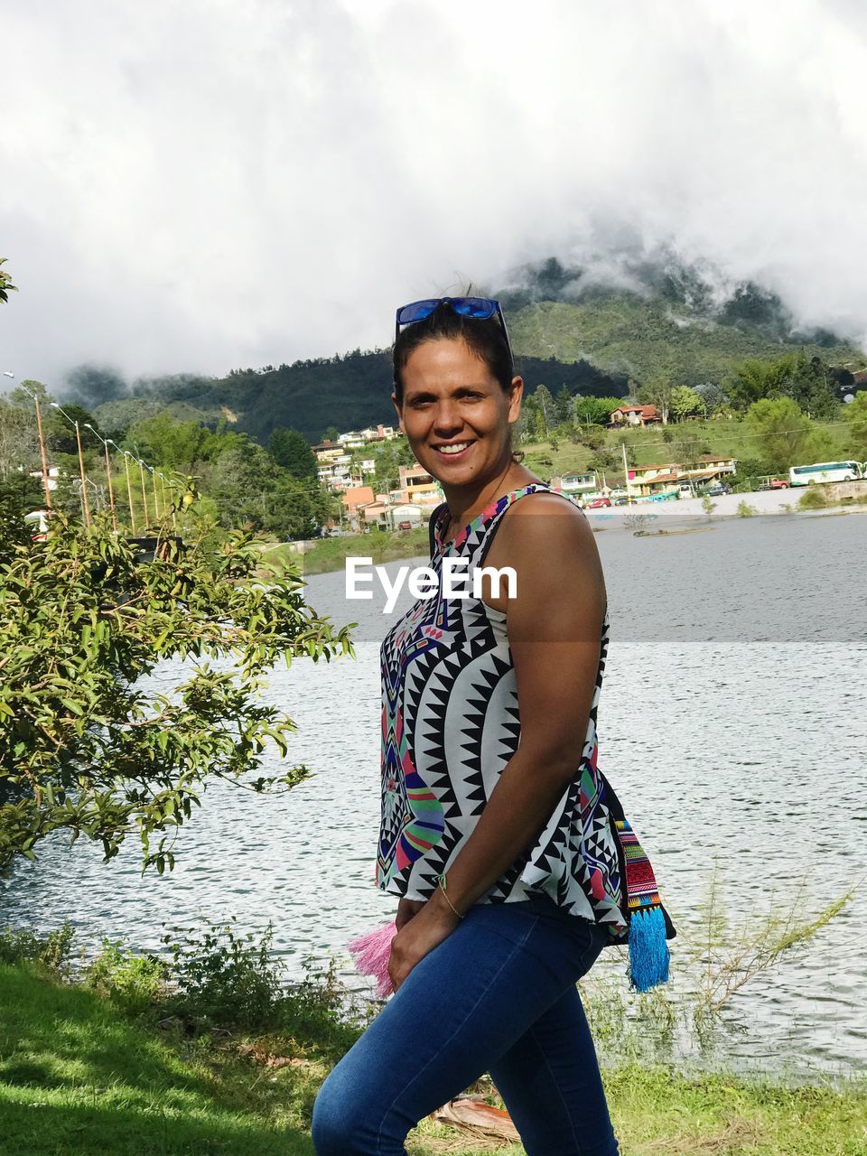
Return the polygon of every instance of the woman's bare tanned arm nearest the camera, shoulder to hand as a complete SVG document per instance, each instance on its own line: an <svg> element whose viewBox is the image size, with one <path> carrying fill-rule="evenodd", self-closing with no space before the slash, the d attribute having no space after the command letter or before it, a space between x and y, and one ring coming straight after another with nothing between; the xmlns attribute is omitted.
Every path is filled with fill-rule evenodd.
<svg viewBox="0 0 867 1156"><path fill-rule="evenodd" d="M540 495L516 503L495 546L499 564L516 571L506 624L520 743L449 867L447 899L437 889L394 936L395 988L457 927L447 901L466 912L532 846L575 776L587 733L606 612L593 531L579 510Z"/></svg>

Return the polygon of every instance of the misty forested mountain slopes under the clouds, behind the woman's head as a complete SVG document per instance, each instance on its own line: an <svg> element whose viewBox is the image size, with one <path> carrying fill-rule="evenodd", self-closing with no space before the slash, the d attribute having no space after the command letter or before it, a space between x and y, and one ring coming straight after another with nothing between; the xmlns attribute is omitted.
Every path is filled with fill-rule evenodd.
<svg viewBox="0 0 867 1156"><path fill-rule="evenodd" d="M506 309L519 370L528 392L546 385L569 393L625 397L660 379L695 386L724 381L744 358L786 353L859 369L865 357L828 332L799 332L780 301L756 286L728 296L675 262L621 262L620 288L592 271L551 259L516 271L497 292ZM161 409L215 428L221 418L262 444L275 429L325 430L394 423L386 351L232 370L224 378L192 375L140 380L81 366L68 397L96 410L104 428L121 429ZM97 408L98 407L98 408Z"/></svg>

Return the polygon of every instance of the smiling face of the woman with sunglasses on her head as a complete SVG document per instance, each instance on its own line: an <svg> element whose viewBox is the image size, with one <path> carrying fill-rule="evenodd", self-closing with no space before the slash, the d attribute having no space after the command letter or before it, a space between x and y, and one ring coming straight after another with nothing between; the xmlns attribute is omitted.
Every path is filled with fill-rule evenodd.
<svg viewBox="0 0 867 1156"><path fill-rule="evenodd" d="M524 383L506 392L460 339L424 341L403 369L403 401L392 400L418 465L444 486L472 486L509 460L509 428Z"/></svg>

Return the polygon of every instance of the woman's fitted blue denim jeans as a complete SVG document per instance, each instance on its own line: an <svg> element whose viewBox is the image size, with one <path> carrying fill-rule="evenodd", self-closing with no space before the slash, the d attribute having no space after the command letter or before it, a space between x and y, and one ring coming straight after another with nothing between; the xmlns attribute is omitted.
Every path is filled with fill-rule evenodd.
<svg viewBox="0 0 867 1156"><path fill-rule="evenodd" d="M547 896L476 904L323 1084L318 1156L405 1156L410 1128L484 1072L528 1156L616 1156L575 986L608 941Z"/></svg>

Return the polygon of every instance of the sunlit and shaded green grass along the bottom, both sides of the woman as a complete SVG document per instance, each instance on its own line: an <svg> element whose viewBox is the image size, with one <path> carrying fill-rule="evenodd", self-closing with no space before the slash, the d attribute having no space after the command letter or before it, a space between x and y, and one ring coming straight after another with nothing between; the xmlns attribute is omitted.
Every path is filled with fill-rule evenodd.
<svg viewBox="0 0 867 1156"><path fill-rule="evenodd" d="M156 1013L151 1013L151 1021ZM156 1029L38 965L0 964L0 1153L312 1154L316 1090L351 1040L311 1005L255 1040ZM629 1065L605 1073L623 1156L865 1156L867 1084L787 1087ZM496 1148L423 1121L414 1156Z"/></svg>

